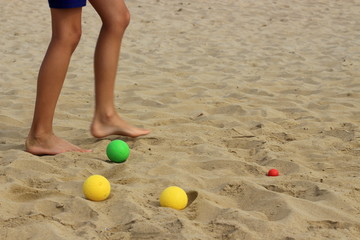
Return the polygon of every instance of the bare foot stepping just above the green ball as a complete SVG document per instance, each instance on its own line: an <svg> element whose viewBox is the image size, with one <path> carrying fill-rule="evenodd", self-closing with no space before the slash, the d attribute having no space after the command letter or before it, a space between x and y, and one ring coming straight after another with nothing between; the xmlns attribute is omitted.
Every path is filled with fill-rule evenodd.
<svg viewBox="0 0 360 240"><path fill-rule="evenodd" d="M91 134L96 138L103 138L110 135L122 135L135 138L149 133L149 130L129 125L117 114L103 118L95 116L91 124Z"/></svg>

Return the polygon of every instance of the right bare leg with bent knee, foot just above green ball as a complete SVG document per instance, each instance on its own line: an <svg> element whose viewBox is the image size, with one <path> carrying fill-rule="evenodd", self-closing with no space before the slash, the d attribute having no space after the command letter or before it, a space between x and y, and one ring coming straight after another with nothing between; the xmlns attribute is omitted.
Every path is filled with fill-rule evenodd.
<svg viewBox="0 0 360 240"><path fill-rule="evenodd" d="M123 0L90 0L103 22L98 38L95 59L95 114L91 133L95 137L123 135L138 137L149 131L127 124L117 114L114 86L121 40L130 21Z"/></svg>

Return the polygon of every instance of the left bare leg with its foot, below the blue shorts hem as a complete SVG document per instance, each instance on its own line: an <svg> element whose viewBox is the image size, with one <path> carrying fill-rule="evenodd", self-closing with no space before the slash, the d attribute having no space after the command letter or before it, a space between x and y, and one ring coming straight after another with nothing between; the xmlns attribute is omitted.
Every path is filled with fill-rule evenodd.
<svg viewBox="0 0 360 240"><path fill-rule="evenodd" d="M26 139L26 151L36 154L86 152L53 133L55 107L70 58L81 36L81 8L51 9L52 38L42 62L33 123Z"/></svg>

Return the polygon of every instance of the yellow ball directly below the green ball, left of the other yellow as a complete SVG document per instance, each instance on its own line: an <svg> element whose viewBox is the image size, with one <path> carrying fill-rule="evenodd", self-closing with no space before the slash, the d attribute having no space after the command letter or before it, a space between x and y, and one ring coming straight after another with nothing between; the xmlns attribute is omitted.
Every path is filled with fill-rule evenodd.
<svg viewBox="0 0 360 240"><path fill-rule="evenodd" d="M83 192L87 199L103 201L110 195L110 182L101 175L92 175L83 184Z"/></svg>

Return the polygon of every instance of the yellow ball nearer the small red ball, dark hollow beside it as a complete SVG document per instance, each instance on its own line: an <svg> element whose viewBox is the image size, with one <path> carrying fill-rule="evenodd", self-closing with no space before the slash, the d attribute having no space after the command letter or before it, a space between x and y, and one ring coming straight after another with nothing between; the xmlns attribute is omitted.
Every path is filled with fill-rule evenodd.
<svg viewBox="0 0 360 240"><path fill-rule="evenodd" d="M179 187L168 187L160 195L160 206L174 208L177 210L184 209L188 203L186 192Z"/></svg>

